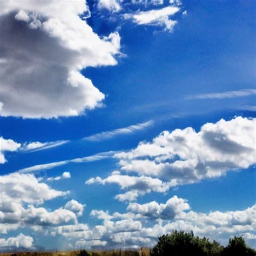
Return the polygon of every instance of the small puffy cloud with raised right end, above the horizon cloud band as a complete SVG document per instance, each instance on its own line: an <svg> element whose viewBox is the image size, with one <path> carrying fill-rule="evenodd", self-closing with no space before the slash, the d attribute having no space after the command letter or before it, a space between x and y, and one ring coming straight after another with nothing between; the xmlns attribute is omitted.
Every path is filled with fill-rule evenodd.
<svg viewBox="0 0 256 256"><path fill-rule="evenodd" d="M183 198L174 196L166 201L166 204L158 204L152 201L146 204L130 203L127 207L128 211L139 213L151 218L173 219L181 212L189 210L190 206Z"/></svg>

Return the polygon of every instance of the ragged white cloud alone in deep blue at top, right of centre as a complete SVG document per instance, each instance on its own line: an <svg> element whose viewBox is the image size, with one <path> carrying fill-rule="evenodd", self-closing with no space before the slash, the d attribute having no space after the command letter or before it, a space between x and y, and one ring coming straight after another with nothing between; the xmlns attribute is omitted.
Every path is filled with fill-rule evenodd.
<svg viewBox="0 0 256 256"><path fill-rule="evenodd" d="M138 25L164 26L165 30L172 32L177 21L170 19L180 11L178 6L166 6L157 10L140 11L137 14L125 14L124 18L131 18Z"/></svg>

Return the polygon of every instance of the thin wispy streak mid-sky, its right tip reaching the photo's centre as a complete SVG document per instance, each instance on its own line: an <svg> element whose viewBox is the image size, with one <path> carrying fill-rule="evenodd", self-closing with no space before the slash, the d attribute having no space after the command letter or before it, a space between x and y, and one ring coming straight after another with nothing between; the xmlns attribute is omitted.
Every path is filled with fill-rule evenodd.
<svg viewBox="0 0 256 256"><path fill-rule="evenodd" d="M136 131L140 131L145 129L146 127L152 126L153 125L153 121L149 120L147 122L144 123L139 123L139 124L135 124L135 125L130 125L124 128L119 128L116 130L112 130L112 131L106 131L106 132L100 132L88 137L85 137L85 140L89 140L92 142L99 142L100 140L104 140L104 139L111 139L113 137L116 137L120 134L129 134L129 133L133 133Z"/></svg>

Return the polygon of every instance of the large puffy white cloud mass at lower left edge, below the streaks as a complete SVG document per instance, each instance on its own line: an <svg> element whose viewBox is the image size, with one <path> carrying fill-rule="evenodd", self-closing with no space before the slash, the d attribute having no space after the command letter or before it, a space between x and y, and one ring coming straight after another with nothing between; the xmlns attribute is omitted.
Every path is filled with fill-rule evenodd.
<svg viewBox="0 0 256 256"><path fill-rule="evenodd" d="M33 231L48 232L50 227L78 224L85 205L70 200L64 207L49 211L43 206L46 200L66 196L45 183L39 183L32 174L11 173L0 176L0 233L8 233L21 227Z"/></svg>

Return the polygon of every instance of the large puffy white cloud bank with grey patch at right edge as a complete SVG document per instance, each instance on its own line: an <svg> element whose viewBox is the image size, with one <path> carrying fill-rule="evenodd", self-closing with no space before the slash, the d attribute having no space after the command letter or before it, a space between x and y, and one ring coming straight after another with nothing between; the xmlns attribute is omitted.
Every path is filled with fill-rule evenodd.
<svg viewBox="0 0 256 256"><path fill-rule="evenodd" d="M141 142L117 153L121 170L158 177L172 185L223 176L255 164L256 119L236 117L192 127L163 131L151 143Z"/></svg>

